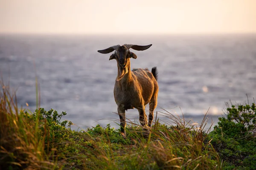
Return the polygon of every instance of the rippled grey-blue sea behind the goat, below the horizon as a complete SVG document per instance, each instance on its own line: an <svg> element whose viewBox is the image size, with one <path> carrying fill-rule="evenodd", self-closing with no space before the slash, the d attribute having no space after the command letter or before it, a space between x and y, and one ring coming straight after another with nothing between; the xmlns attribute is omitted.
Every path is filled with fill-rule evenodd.
<svg viewBox="0 0 256 170"><path fill-rule="evenodd" d="M82 128L98 123L116 126L116 61L97 50L125 43L153 44L145 51L131 50L138 56L131 59L131 68L157 66L156 111L184 113L199 122L210 108L208 117L216 120L230 99L243 102L247 94L253 102L256 97L256 35L249 34L1 35L0 74L17 90L20 107L35 110L37 76L41 107L66 111L64 119ZM127 116L138 122L137 110L128 110Z"/></svg>

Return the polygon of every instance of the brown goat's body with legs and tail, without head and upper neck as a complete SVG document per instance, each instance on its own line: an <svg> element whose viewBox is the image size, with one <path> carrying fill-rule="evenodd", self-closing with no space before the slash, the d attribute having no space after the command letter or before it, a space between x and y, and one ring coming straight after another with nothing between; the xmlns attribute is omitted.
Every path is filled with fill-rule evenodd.
<svg viewBox="0 0 256 170"><path fill-rule="evenodd" d="M156 68L154 69L154 71L157 71ZM116 105L118 106L121 126L125 127L126 125L125 110L133 108L136 108L139 111L141 125L148 124L149 127L151 126L154 115L153 112L157 106L158 84L156 79L157 75L153 75L148 69L137 68L131 71L130 67L128 67L125 76L121 80L116 80L114 98ZM147 123L145 105L148 103L149 121ZM124 119L124 121L122 121L122 119Z"/></svg>

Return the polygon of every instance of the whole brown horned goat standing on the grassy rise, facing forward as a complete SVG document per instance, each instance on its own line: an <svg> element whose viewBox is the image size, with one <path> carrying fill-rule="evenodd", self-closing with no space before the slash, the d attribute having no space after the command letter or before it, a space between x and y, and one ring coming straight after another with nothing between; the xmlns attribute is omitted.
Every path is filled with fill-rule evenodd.
<svg viewBox="0 0 256 170"><path fill-rule="evenodd" d="M104 50L98 50L102 54L108 54L115 50L109 60L116 59L117 62L114 98L120 118L121 134L124 138L126 138L125 110L136 108L139 111L140 124L147 126L145 105L149 103L148 127L151 127L154 109L157 107L157 68L153 67L150 72L147 68L137 68L131 71L130 67L130 58L136 59L137 55L131 52L129 48L143 51L151 47L151 45L124 44L122 46L114 45Z"/></svg>

